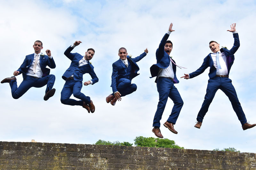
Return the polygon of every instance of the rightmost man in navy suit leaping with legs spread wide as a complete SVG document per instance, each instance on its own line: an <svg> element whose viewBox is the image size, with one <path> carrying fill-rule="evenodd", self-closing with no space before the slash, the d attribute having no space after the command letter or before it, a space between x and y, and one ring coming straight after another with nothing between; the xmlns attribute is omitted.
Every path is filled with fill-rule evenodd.
<svg viewBox="0 0 256 170"><path fill-rule="evenodd" d="M231 79L228 78L230 68L235 60L234 54L240 46L238 33L236 32L236 23L232 24L230 27L231 29L227 31L233 33L233 37L235 39L234 46L230 50L226 48L220 49L220 44L216 41L210 41L209 47L212 53L204 58L202 66L196 71L190 74L185 74L185 76L181 77L185 79L194 78L203 73L206 68L210 67L210 79L208 80L204 102L196 118L197 123L195 127L198 129L200 129L204 116L218 89L222 90L228 96L228 99L230 100L232 107L242 124L243 130L252 128L256 125L247 123L244 111L237 98L236 90L231 83Z"/></svg>

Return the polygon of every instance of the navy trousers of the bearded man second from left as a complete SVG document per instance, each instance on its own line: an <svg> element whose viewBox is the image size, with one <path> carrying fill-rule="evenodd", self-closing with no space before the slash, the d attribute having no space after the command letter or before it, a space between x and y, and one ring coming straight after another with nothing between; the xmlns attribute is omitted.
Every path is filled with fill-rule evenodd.
<svg viewBox="0 0 256 170"><path fill-rule="evenodd" d="M85 96L83 93L81 93L81 89L83 87L82 81L76 81L76 80L67 80L64 84L64 87L61 91L60 101L62 104L65 105L71 105L71 106L83 106L83 101L88 104L91 102L91 99L89 96ZM80 99L70 99L71 95L74 95L74 97Z"/></svg>

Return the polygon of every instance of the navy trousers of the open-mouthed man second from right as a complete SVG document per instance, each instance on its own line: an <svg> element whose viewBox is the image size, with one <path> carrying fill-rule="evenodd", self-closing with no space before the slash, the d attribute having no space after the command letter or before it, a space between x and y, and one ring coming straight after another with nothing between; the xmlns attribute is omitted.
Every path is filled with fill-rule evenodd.
<svg viewBox="0 0 256 170"><path fill-rule="evenodd" d="M180 93L174 86L173 81L168 78L159 77L157 79L156 86L159 93L159 102L153 120L153 126L160 127L160 120L162 119L168 97L172 99L174 106L172 107L171 115L169 116L167 121L175 124L180 114L180 110L183 106L183 100L180 97Z"/></svg>

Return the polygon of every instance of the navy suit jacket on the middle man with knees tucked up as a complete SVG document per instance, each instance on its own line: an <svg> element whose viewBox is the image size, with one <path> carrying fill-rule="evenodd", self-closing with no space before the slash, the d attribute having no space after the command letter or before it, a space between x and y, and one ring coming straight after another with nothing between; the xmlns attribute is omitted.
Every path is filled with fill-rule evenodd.
<svg viewBox="0 0 256 170"><path fill-rule="evenodd" d="M119 58L119 60L117 60L115 63L112 64L113 72L112 72L112 76L111 76L111 78L112 78L111 87L112 87L113 92L118 91L116 87L117 87L117 82L120 78L126 78L127 75L130 74L130 77L132 80L132 78L139 75L137 72L140 70L140 68L136 64L136 62L140 61L146 55L147 55L146 52L142 53L140 56L137 56L135 58L131 58L129 55L127 55L127 60L129 60L129 62L132 64L132 72L131 73L127 73L125 71L126 66L121 61L120 58Z"/></svg>

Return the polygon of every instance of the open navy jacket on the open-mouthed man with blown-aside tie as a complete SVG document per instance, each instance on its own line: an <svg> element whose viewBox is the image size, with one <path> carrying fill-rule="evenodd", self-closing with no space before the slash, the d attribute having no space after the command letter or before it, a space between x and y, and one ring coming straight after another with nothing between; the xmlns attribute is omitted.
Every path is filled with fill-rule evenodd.
<svg viewBox="0 0 256 170"><path fill-rule="evenodd" d="M166 69L170 65L170 56L164 51L165 42L167 41L169 34L165 34L163 39L161 40L159 47L156 50L156 64L150 67L150 78L156 77L158 75L159 68ZM175 61L172 59L175 63ZM176 65L172 63L172 70L174 73L173 83L179 83L180 81L176 77ZM156 81L157 82L157 77Z"/></svg>

